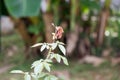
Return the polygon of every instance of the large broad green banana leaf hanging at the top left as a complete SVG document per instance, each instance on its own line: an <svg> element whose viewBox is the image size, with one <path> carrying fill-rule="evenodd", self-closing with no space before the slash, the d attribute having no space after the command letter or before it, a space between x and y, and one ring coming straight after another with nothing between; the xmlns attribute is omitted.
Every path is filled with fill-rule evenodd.
<svg viewBox="0 0 120 80"><path fill-rule="evenodd" d="M4 0L7 10L13 17L38 16L41 0Z"/></svg>

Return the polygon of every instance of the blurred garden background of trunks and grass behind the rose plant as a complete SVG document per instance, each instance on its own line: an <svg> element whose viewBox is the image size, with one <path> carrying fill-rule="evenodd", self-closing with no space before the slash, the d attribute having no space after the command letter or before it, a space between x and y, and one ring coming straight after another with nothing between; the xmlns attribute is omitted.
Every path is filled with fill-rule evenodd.
<svg viewBox="0 0 120 80"><path fill-rule="evenodd" d="M0 80L23 80L13 69L30 71L45 57L38 42L52 42L64 29L69 66L54 64L62 80L120 80L120 0L0 0Z"/></svg>

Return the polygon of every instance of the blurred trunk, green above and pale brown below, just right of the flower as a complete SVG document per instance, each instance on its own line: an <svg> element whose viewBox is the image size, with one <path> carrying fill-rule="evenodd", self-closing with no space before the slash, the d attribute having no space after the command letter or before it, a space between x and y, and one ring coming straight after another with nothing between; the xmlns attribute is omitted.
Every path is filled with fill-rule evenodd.
<svg viewBox="0 0 120 80"><path fill-rule="evenodd" d="M69 56L76 51L79 39L79 24L77 23L77 16L79 16L79 0L70 1L70 32L67 34L67 53ZM71 46L72 45L72 46Z"/></svg>

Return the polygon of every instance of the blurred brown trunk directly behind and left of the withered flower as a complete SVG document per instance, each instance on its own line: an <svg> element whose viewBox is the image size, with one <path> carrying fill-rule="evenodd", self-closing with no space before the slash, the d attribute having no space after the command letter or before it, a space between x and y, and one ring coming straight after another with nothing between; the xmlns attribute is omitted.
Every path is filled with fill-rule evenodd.
<svg viewBox="0 0 120 80"><path fill-rule="evenodd" d="M43 20L45 23L45 39L46 42L52 42L52 32L54 30L53 26L51 25L51 23L53 23L54 17L53 17L53 13L51 12L51 0L46 0L45 5L43 6L46 7L46 10L43 11Z"/></svg>

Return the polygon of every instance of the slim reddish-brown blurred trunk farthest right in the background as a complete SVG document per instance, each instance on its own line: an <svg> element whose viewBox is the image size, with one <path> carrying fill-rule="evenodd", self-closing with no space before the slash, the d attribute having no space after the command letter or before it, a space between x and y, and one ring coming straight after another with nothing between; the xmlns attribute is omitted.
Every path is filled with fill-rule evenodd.
<svg viewBox="0 0 120 80"><path fill-rule="evenodd" d="M107 26L107 20L109 18L109 8L110 8L110 1L105 1L105 6L103 7L101 14L99 16L98 25L97 25L97 39L96 39L96 45L101 46L104 40L104 32L105 27Z"/></svg>

